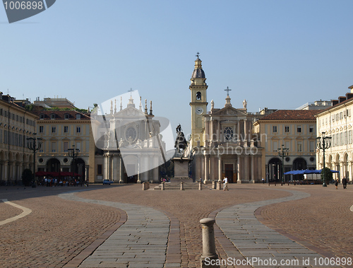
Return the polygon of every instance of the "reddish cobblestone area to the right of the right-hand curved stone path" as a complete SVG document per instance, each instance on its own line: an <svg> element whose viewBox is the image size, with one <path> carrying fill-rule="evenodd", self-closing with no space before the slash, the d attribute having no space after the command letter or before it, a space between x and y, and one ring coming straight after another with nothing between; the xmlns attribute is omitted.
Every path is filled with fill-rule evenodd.
<svg viewBox="0 0 353 268"><path fill-rule="evenodd" d="M281 189L311 194L308 199L265 206L258 219L280 233L295 236L301 244L318 247L337 257L353 257L353 185L296 185ZM316 251L319 251L316 249Z"/></svg>

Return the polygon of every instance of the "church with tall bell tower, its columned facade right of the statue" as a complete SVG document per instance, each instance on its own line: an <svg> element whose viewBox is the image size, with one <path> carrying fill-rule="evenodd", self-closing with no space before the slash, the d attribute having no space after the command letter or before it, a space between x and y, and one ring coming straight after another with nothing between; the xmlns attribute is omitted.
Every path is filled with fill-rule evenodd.
<svg viewBox="0 0 353 268"><path fill-rule="evenodd" d="M191 176L205 183L228 178L229 182L261 181L260 141L252 133L254 117L243 107L232 107L227 88L225 105L207 110L207 89L201 59L191 76L191 139L186 154L191 158Z"/></svg>

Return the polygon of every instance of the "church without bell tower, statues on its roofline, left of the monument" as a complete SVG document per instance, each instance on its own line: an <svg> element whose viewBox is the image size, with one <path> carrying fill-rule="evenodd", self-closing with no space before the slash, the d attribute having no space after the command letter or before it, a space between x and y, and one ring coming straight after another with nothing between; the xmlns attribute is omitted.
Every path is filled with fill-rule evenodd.
<svg viewBox="0 0 353 268"><path fill-rule="evenodd" d="M159 182L160 165L165 162L165 144L160 135L160 121L154 119L152 102L150 112L145 100L142 109L133 103L133 96L128 104L116 109L113 100L109 113L92 115L92 131L95 144L102 152L101 180L113 182ZM96 157L97 159L97 157ZM98 181L96 181L98 182Z"/></svg>

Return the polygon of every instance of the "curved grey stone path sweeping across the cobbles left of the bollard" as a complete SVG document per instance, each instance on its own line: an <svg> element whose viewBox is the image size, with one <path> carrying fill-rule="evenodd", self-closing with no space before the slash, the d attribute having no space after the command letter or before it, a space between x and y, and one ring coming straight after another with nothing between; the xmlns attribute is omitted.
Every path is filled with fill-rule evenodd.
<svg viewBox="0 0 353 268"><path fill-rule="evenodd" d="M112 206L126 211L120 226L80 267L164 267L169 218L148 206L84 199L74 192L59 197L78 202Z"/></svg>

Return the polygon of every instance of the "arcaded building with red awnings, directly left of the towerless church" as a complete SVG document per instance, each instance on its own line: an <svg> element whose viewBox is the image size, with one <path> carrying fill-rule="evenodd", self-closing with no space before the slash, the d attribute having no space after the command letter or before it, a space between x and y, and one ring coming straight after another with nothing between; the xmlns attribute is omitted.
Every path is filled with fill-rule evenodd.
<svg viewBox="0 0 353 268"><path fill-rule="evenodd" d="M42 146L37 151L37 170L56 173L74 171L80 175L80 180L90 180L90 165L94 173L94 158L90 159L89 156L90 151L95 151L90 143L90 117L74 110L42 110L34 113L38 118L37 136L42 138ZM70 148L78 152L74 165L68 153ZM93 164L90 163L92 161Z"/></svg>

